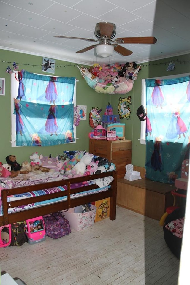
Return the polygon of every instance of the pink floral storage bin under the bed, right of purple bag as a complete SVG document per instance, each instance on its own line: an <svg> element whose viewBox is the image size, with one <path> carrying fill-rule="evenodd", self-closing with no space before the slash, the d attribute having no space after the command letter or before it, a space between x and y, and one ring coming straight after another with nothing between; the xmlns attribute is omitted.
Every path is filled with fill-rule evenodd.
<svg viewBox="0 0 190 285"><path fill-rule="evenodd" d="M86 229L94 225L96 216L96 206L91 205L91 211L85 213L74 213L75 208L70 208L66 212L62 212L69 221L70 227L76 231Z"/></svg>

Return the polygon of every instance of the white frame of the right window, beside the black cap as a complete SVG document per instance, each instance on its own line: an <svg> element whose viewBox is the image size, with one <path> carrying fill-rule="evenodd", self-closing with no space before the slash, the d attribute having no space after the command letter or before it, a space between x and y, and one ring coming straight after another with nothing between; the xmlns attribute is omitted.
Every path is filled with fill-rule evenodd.
<svg viewBox="0 0 190 285"><path fill-rule="evenodd" d="M163 77L153 77L153 78L149 78L149 79L172 79L172 78L184 77L184 76L188 76L188 75L190 75L190 73L177 74L177 75L171 75L171 76L163 76ZM146 83L145 83L145 80L146 79L142 79L141 105L143 105L145 110L146 110ZM140 129L140 143L144 144L144 145L146 144L145 136L146 136L146 120L141 121L141 129Z"/></svg>

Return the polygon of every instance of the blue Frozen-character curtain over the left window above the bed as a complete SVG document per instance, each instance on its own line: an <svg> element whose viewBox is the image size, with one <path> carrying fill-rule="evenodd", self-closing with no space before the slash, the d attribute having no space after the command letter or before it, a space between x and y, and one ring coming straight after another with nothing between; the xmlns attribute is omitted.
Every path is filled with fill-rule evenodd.
<svg viewBox="0 0 190 285"><path fill-rule="evenodd" d="M18 73L14 99L17 146L50 146L74 141L75 78Z"/></svg>

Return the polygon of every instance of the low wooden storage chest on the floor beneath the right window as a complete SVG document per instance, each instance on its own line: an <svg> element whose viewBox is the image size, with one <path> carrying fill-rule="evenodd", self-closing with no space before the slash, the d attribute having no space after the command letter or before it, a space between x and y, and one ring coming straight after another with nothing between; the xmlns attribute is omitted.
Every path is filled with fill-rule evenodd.
<svg viewBox="0 0 190 285"><path fill-rule="evenodd" d="M173 204L171 191L174 189L174 185L146 178L134 181L121 178L117 183L117 205L160 220L166 208Z"/></svg>

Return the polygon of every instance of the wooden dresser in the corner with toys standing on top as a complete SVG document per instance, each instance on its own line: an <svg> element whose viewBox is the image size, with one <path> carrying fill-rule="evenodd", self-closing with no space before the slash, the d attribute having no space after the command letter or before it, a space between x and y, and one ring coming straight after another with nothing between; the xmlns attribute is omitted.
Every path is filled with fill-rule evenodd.
<svg viewBox="0 0 190 285"><path fill-rule="evenodd" d="M89 140L89 152L115 164L118 178L124 178L126 164L131 164L131 140Z"/></svg>

